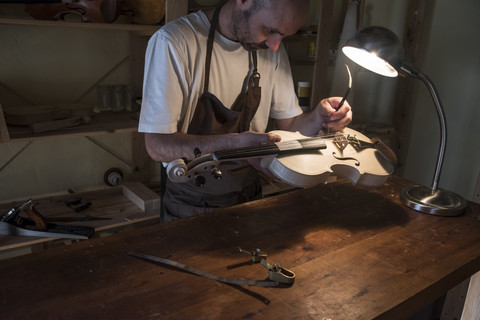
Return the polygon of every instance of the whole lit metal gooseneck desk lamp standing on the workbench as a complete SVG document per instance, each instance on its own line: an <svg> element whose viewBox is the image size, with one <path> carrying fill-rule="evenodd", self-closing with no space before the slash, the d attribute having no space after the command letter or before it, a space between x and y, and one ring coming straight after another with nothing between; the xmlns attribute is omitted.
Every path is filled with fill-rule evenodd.
<svg viewBox="0 0 480 320"><path fill-rule="evenodd" d="M342 48L343 53L362 67L387 77L411 76L421 80L429 89L440 120L440 151L432 187L409 186L402 190L402 203L414 210L439 216L456 216L464 212L467 202L459 195L438 188L438 180L446 146L446 121L437 90L404 56L400 40L392 31L378 26L359 30Z"/></svg>

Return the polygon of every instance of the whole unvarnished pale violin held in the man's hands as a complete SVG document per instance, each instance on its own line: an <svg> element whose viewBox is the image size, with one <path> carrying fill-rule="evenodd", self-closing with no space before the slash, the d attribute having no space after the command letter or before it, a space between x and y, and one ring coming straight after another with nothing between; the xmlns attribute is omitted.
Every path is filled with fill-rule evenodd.
<svg viewBox="0 0 480 320"><path fill-rule="evenodd" d="M222 161L261 158L262 168L292 186L313 187L334 175L355 185L373 187L385 183L397 162L395 153L380 139L370 140L350 128L316 137L283 130L272 133L279 135L281 141L198 154L189 162L174 160L167 166L167 176L173 182L194 180L201 186L205 174L221 179L218 166Z"/></svg>

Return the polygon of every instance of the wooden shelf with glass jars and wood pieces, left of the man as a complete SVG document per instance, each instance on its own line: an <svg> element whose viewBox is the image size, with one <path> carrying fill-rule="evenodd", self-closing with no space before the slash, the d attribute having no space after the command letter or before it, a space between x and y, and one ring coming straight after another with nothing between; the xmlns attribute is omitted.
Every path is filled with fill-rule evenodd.
<svg viewBox="0 0 480 320"><path fill-rule="evenodd" d="M55 136L86 136L106 133L134 132L138 129L138 113L95 113L92 121L74 127L37 133L31 132L28 126L7 125L7 141L30 141ZM6 141L3 141L6 142Z"/></svg>

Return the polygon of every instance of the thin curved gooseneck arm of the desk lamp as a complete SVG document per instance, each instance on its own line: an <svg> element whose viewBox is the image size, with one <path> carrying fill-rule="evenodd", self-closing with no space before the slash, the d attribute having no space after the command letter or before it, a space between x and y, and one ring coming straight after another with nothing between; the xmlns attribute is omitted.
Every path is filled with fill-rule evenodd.
<svg viewBox="0 0 480 320"><path fill-rule="evenodd" d="M445 148L447 145L447 122L445 120L445 112L443 111L437 89L435 88L433 81L427 75L423 74L407 59L405 59L400 67L400 72L402 75L408 75L421 80L430 91L435 108L437 109L438 120L440 121L440 150L438 151L437 165L435 167L435 175L432 183L432 190L435 191L438 188L438 181L440 179L440 172L442 171L443 159L445 158Z"/></svg>

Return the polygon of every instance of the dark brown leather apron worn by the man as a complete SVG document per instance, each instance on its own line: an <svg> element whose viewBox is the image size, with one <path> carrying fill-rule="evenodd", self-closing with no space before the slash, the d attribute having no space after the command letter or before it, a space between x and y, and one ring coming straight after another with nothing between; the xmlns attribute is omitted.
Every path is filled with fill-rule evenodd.
<svg viewBox="0 0 480 320"><path fill-rule="evenodd" d="M238 95L230 109L208 92L210 61L220 9L221 6L215 10L212 18L207 41L204 92L197 102L188 134L215 135L248 131L260 104L261 88L256 51L251 52L254 69L250 76L247 75L247 90ZM164 221L185 218L261 197L258 172L247 161L225 161L219 165L219 169L222 179L217 180L211 175L205 175L206 182L203 186L196 186L193 181L173 183L166 179L163 197Z"/></svg>

